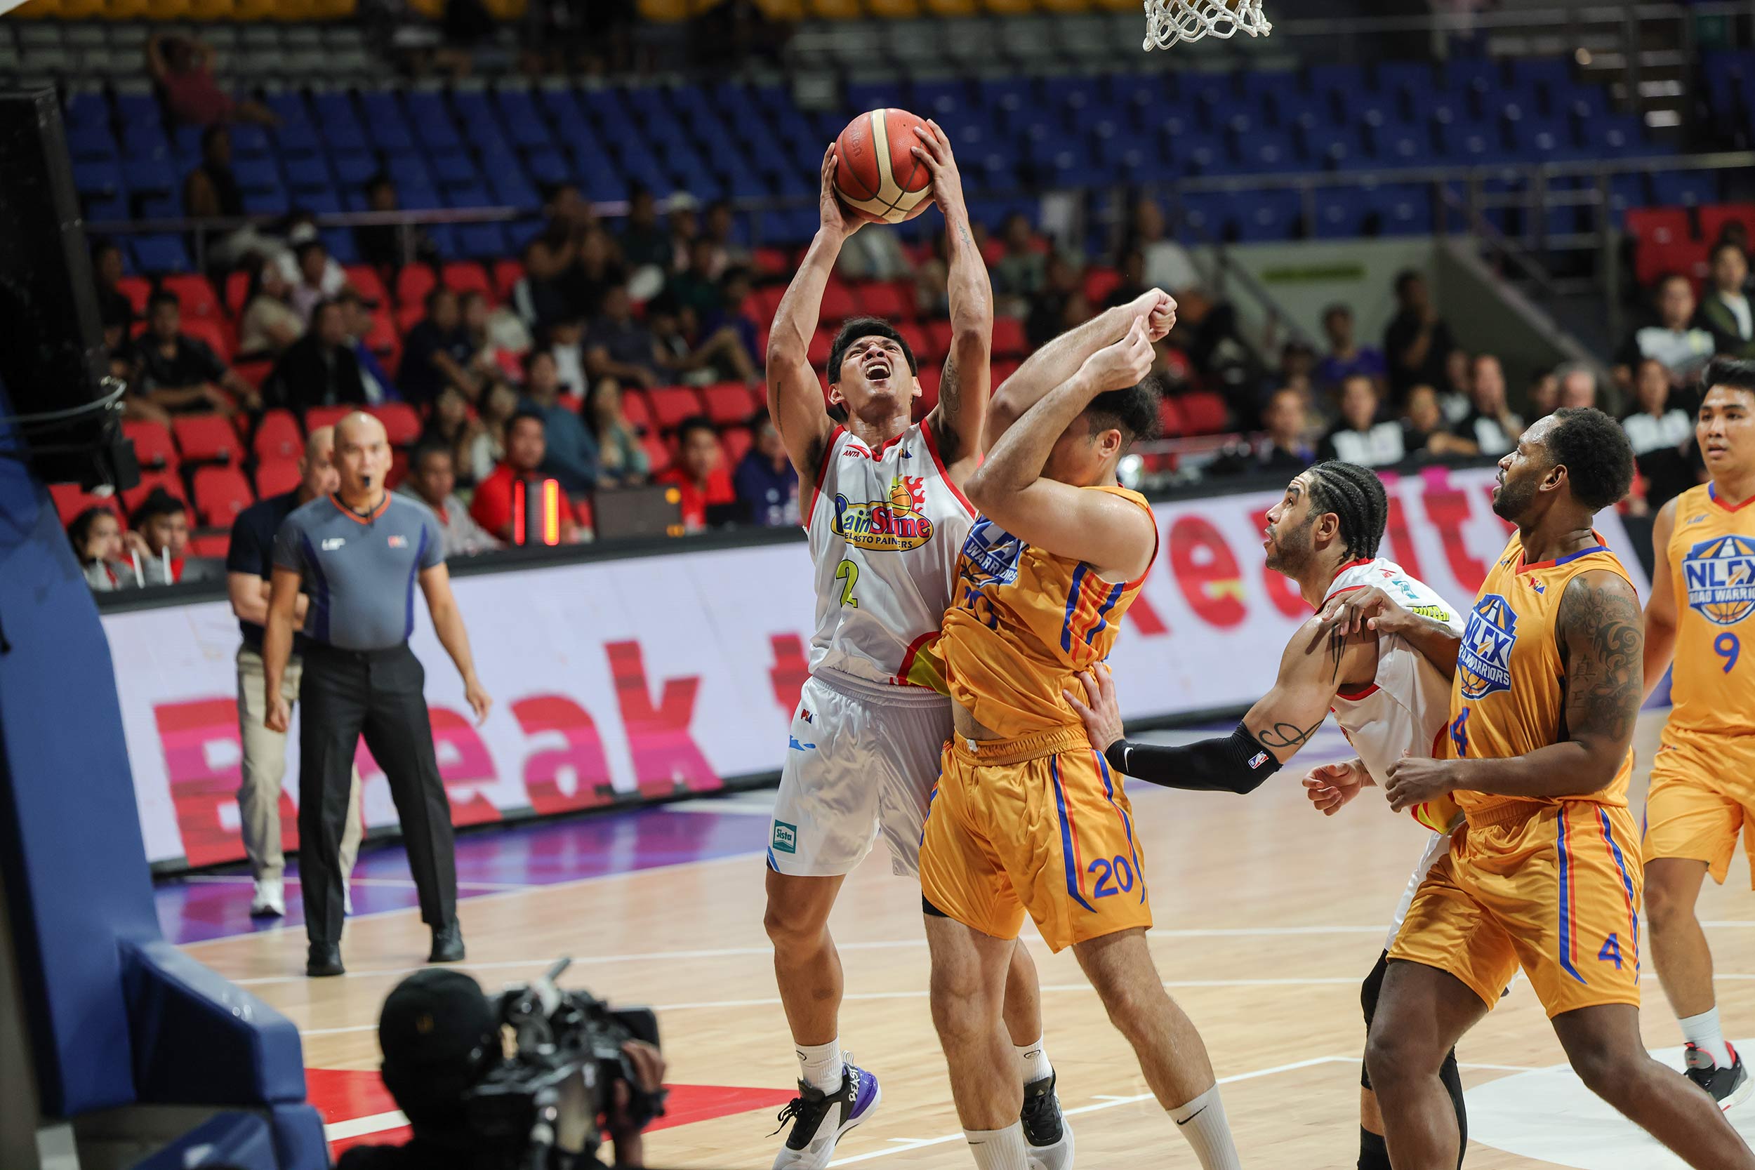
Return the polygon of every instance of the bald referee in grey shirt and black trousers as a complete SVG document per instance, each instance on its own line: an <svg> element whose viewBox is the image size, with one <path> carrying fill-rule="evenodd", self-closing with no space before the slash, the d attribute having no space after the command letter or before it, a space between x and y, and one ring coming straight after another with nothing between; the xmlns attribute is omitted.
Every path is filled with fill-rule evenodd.
<svg viewBox="0 0 1755 1170"><path fill-rule="evenodd" d="M300 588L311 602L304 621L305 675L298 726L298 861L311 951L305 974L340 975L340 837L347 816L353 754L365 735L397 802L421 921L432 928L428 963L463 958L456 923L456 858L451 805L439 781L426 672L409 649L414 584L432 610L476 719L493 700L476 677L463 616L451 596L439 521L421 503L384 488L390 442L370 414L335 424L339 491L295 509L274 540L269 626L261 642L270 731L291 716L281 677L293 649Z"/></svg>

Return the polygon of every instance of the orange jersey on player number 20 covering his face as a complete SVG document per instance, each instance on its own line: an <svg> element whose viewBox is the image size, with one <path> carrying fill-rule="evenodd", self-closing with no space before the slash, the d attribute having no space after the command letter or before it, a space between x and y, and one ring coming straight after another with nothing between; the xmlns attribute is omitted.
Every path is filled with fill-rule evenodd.
<svg viewBox="0 0 1755 1170"><path fill-rule="evenodd" d="M1118 495L1151 514L1137 491L1085 491ZM1004 738L1078 726L1060 691L1072 686L1074 672L1109 656L1144 579L1111 584L1090 565L1023 544L978 517L937 644L951 698Z"/></svg>

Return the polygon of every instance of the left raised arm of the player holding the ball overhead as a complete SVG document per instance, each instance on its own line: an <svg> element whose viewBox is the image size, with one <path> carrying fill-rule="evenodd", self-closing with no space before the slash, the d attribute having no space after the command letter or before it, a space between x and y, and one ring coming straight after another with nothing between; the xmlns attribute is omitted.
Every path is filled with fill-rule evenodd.
<svg viewBox="0 0 1755 1170"><path fill-rule="evenodd" d="M800 495L816 486L823 451L834 433L834 423L823 409L823 388L816 381L816 370L811 368L811 339L816 337L823 289L835 270L841 246L860 230L860 221L849 216L835 196L834 146L823 153L818 210L821 226L774 312L767 351L769 414L799 472Z"/></svg>

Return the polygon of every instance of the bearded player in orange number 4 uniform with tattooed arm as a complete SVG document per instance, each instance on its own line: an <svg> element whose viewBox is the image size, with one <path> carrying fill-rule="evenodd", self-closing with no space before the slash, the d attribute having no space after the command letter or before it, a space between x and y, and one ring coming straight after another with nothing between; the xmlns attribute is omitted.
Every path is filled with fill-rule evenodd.
<svg viewBox="0 0 1755 1170"><path fill-rule="evenodd" d="M1437 1070L1522 967L1578 1077L1697 1170L1755 1170L1713 1098L1639 1038L1639 847L1627 812L1644 630L1590 524L1627 495L1632 447L1562 409L1499 461L1516 524L1457 647L1446 760L1400 760L1404 810L1455 798L1467 826L1390 947L1365 1065L1397 1170L1450 1170L1460 1135Z"/></svg>

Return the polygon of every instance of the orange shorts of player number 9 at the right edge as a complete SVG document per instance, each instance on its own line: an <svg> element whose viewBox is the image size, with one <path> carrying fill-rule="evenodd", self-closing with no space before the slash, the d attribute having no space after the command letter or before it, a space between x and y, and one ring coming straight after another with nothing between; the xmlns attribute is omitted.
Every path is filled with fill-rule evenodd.
<svg viewBox="0 0 1755 1170"><path fill-rule="evenodd" d="M1755 735L1664 728L1646 791L1644 860L1706 861L1723 884L1739 831L1755 888Z"/></svg>

